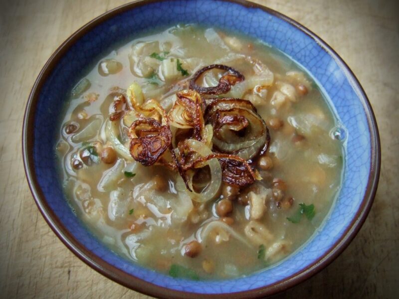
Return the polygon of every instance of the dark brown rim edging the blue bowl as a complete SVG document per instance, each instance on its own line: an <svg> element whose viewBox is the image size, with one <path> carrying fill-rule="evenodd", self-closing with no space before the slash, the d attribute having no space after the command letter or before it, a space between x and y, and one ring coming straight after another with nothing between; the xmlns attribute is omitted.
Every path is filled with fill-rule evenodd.
<svg viewBox="0 0 399 299"><path fill-rule="evenodd" d="M235 293L222 293L222 294L199 294L184 291L177 291L168 289L166 287L157 286L150 282L146 282L138 277L131 276L122 270L112 266L102 260L101 258L94 255L91 251L86 249L80 242L75 239L62 225L55 213L50 209L46 203L45 197L40 189L40 186L36 179L35 169L33 165L33 124L34 115L36 110L36 105L39 100L40 90L46 81L47 77L51 74L53 68L57 65L61 57L69 50L69 48L75 43L76 40L80 39L83 35L89 32L92 28L101 24L102 22L120 14L127 10L131 10L149 3L161 2L165 0L138 0L130 3L123 4L112 10L104 12L103 14L92 19L78 30L76 30L72 35L70 35L50 56L43 68L41 69L35 83L29 94L29 98L26 104L26 109L23 118L23 128L22 128L22 156L23 164L25 169L26 179L29 185L29 189L33 195L36 205L41 212L44 220L56 234L56 236L62 241L62 243L72 251L80 260L90 266L92 269L96 270L105 277L119 283L129 289L138 291L140 293L162 297L162 298L198 298L200 295L203 298L259 298L265 296L271 296L276 293L285 291L299 283L309 279L316 273L320 272L322 269L327 267L331 262L333 262L350 244L350 242L355 238L363 223L365 222L367 215L371 209L374 201L374 197L377 192L377 186L380 177L381 168L381 145L380 136L378 131L378 126L376 118L374 116L371 104L367 98L367 95L360 85L355 74L349 68L349 66L344 62L344 60L320 37L318 37L311 30L293 20L292 18L276 11L266 6L258 3L253 3L247 0L223 0L226 2L232 2L240 4L247 8L259 8L263 11L274 15L297 29L301 30L309 37L311 37L315 42L317 42L339 65L344 69L348 77L352 79L352 87L357 92L359 99L365 110L367 123L370 131L370 142L371 142L371 165L370 173L368 178L368 183L366 186L366 192L363 197L362 203L353 218L352 222L342 234L340 239L332 246L330 249L321 256L318 260L314 261L308 267L296 272L290 277L280 280L272 285L260 287L253 290L235 292ZM28 134L30 133L30 134Z"/></svg>

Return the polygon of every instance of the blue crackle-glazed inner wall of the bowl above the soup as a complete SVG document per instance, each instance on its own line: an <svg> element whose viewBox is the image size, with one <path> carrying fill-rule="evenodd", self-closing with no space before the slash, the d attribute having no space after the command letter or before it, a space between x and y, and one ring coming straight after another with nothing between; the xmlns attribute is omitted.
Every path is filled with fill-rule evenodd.
<svg viewBox="0 0 399 299"><path fill-rule="evenodd" d="M115 43L125 41L146 28L178 22L198 22L238 31L280 49L303 65L331 99L338 118L347 129L343 186L321 231L299 252L283 263L246 278L223 282L190 282L144 269L117 256L94 238L73 214L55 175L55 162L47 158L54 148L55 126L67 92L90 66ZM42 87L36 107L33 134L34 168L47 204L75 239L107 263L147 282L178 291L230 293L252 290L279 282L308 267L340 240L358 212L370 172L370 132L362 93L345 67L312 37L288 22L258 8L218 0L164 1L151 3L115 16L71 46Z"/></svg>

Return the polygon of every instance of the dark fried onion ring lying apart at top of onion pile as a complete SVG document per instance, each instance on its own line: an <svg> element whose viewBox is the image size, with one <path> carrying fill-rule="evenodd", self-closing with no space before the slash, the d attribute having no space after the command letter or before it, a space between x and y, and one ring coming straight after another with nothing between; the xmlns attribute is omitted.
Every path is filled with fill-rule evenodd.
<svg viewBox="0 0 399 299"><path fill-rule="evenodd" d="M219 83L217 86L212 86L212 87L201 87L199 86L196 81L200 76L210 70L210 69L219 69L219 70L225 70L227 71L227 74L223 75L219 79ZM235 85L238 82L244 81L244 75L242 75L240 72L237 70L233 69L232 67L223 65L223 64L211 64L208 66L205 66L198 70L193 78L190 81L190 89L195 90L199 92L200 94L209 94L209 95L220 95L220 94L225 94L227 93L232 85Z"/></svg>

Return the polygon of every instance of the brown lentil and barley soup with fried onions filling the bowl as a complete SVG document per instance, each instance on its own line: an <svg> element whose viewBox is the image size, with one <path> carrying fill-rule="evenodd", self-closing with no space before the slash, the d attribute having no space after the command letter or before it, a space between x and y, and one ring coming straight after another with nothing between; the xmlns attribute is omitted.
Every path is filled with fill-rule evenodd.
<svg viewBox="0 0 399 299"><path fill-rule="evenodd" d="M341 182L338 126L288 57L177 25L88 71L56 151L70 205L114 252L226 279L273 266L322 225Z"/></svg>

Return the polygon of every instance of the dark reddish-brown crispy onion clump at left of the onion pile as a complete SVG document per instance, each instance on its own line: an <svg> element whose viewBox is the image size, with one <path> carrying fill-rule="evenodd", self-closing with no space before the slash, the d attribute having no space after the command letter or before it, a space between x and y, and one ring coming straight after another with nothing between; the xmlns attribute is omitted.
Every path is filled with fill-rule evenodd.
<svg viewBox="0 0 399 299"><path fill-rule="evenodd" d="M172 142L169 126L153 118L140 118L129 128L130 154L145 166L153 165Z"/></svg>

